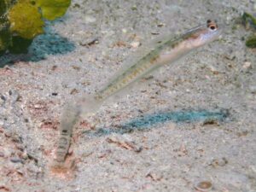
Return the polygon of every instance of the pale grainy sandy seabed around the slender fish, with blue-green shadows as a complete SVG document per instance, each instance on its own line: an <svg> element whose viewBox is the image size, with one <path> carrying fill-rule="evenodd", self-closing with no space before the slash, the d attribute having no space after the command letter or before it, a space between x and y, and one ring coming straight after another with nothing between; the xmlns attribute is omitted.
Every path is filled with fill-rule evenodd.
<svg viewBox="0 0 256 192"><path fill-rule="evenodd" d="M0 191L256 191L256 52L237 22L255 2L73 1L0 69ZM140 44L216 19L222 38L105 102L50 168L67 101L93 94Z"/></svg>

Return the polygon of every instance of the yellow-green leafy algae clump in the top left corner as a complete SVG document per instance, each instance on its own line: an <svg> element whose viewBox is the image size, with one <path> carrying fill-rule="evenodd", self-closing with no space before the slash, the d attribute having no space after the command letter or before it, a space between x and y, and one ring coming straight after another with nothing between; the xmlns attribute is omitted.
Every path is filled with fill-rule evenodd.
<svg viewBox="0 0 256 192"><path fill-rule="evenodd" d="M0 55L26 53L44 33L44 19L64 15L71 0L0 0Z"/></svg>

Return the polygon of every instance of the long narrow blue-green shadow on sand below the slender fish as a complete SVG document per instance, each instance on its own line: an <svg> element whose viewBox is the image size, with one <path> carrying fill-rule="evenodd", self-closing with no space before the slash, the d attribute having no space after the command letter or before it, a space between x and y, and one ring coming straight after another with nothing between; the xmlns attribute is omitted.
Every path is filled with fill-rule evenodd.
<svg viewBox="0 0 256 192"><path fill-rule="evenodd" d="M90 136L104 136L111 133L129 133L132 131L145 131L157 127L166 122L174 123L194 123L204 121L222 122L230 116L229 110L220 109L214 111L207 110L183 110L178 112L160 112L144 115L137 119L131 119L117 127L104 127L94 132L84 132Z"/></svg>

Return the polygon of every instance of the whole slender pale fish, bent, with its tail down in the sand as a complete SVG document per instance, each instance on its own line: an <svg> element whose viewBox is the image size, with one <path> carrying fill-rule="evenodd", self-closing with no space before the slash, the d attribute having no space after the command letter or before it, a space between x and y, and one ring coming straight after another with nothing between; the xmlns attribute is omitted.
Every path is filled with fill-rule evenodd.
<svg viewBox="0 0 256 192"><path fill-rule="evenodd" d="M108 97L124 90L128 85L154 71L156 68L177 61L178 58L186 55L191 50L201 47L218 38L220 30L213 20L207 20L206 25L197 26L188 32L175 38L166 38L158 41L154 49L151 49L140 59L132 63L125 70L121 70L106 86L99 90L95 96L85 96L72 107L66 108L61 116L60 146L56 156L57 160L65 159L69 142L67 133L71 134L73 125L80 113L93 113L101 107ZM65 147L65 143L67 143Z"/></svg>

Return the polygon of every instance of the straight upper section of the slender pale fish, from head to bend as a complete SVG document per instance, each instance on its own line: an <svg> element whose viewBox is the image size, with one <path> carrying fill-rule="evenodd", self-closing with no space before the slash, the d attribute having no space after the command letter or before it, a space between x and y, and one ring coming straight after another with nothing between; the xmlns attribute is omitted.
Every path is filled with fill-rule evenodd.
<svg viewBox="0 0 256 192"><path fill-rule="evenodd" d="M207 20L207 25L196 26L175 38L159 40L154 49L142 55L125 70L120 70L117 75L99 90L95 96L84 98L82 110L84 113L95 111L108 97L118 94L128 85L137 82L155 69L177 61L191 50L201 47L204 44L218 38L220 30L213 20ZM87 101L86 101L87 100Z"/></svg>

